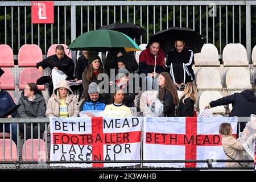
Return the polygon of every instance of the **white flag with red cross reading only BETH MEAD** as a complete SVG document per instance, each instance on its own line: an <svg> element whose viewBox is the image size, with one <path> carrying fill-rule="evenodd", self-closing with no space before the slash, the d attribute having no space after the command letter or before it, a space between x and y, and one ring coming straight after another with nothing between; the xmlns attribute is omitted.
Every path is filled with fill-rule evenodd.
<svg viewBox="0 0 256 182"><path fill-rule="evenodd" d="M237 117L144 118L143 160L226 159L218 133L221 123L237 131ZM218 165L218 166L217 166ZM207 167L207 163L145 163L155 167ZM213 167L225 163L213 163Z"/></svg>

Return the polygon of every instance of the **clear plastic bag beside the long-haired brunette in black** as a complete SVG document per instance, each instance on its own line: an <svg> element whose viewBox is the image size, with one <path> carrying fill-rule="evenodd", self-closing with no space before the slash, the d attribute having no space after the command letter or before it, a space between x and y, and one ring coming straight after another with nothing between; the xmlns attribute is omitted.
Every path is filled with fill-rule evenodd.
<svg viewBox="0 0 256 182"><path fill-rule="evenodd" d="M163 103L158 98L149 98L142 93L141 99L143 117L163 117Z"/></svg>

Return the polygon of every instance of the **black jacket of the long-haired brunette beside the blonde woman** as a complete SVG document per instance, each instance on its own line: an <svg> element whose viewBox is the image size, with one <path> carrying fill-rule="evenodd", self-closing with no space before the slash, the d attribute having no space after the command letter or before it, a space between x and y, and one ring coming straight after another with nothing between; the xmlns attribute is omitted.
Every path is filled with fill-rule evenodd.
<svg viewBox="0 0 256 182"><path fill-rule="evenodd" d="M160 101L160 94L158 95ZM175 116L175 105L174 105L174 97L172 97L172 93L169 90L164 91L164 100L162 101L164 105L163 114L165 117L174 117Z"/></svg>

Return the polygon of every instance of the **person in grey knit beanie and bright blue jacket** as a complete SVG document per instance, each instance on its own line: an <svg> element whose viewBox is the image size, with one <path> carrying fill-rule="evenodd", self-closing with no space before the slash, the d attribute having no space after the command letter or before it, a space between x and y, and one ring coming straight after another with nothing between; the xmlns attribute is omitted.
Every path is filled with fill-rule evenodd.
<svg viewBox="0 0 256 182"><path fill-rule="evenodd" d="M104 110L106 104L102 102L100 95L100 89L96 82L91 82L88 88L89 97L84 100L80 106L80 111L82 110Z"/></svg>

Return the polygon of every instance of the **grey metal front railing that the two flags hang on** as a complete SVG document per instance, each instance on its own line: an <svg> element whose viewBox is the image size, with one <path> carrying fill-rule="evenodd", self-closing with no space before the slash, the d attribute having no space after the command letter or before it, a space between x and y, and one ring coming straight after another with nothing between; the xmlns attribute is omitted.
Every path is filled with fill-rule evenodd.
<svg viewBox="0 0 256 182"><path fill-rule="evenodd" d="M238 117L238 130L240 131L240 124L243 123L243 122L247 122L249 121L250 118L249 117ZM200 168L200 169L218 169L216 167L212 167L212 163L215 162L215 163L224 163L224 162L231 162L231 163L236 163L236 162L241 162L241 163L253 163L253 160L212 160L212 159L208 159L208 160L132 160L132 161L76 161L76 162L69 162L69 161L65 161L65 162L61 162L61 161L44 161L43 163L40 163L38 161L29 161L29 160L26 160L27 157L26 157L26 154L27 154L27 149L26 149L26 139L28 138L31 138L33 139L33 127L31 126L31 136L28 136L26 134L26 125L29 125L30 123L36 123L39 127L38 127L38 136L40 136L40 138L42 138L42 134L43 133L40 133L40 124L43 123L44 126L45 126L45 129L47 129L47 125L49 123L49 118L11 118L11 119L8 119L8 118L0 118L0 125L2 126L3 125L3 133L5 133L5 125L9 125L9 123L17 123L18 125L16 125L16 132L17 132L17 142L16 142L16 146L17 146L17 155L18 155L18 160L13 160L13 161L5 161L5 143L3 143L3 161L0 162L0 169L1 169L1 165L2 164L15 164L15 168L20 168L21 165L25 164L25 168L26 168L26 164L39 164L39 168L40 168L40 164L43 164L44 168L51 168L51 166L47 166L47 164L54 164L54 163L139 163L139 167L137 168L147 168L147 167L144 167L143 166L143 163L206 163L208 167L205 167L205 168ZM26 125L24 125L24 133L23 133L23 139L20 138L20 124L22 123L26 123ZM13 139L12 138L12 134L13 134L13 131L10 130L10 139ZM5 135L3 135L3 139L5 139ZM22 143L21 143L22 142ZM22 145L23 145L23 142L24 142L24 151L21 150L22 148ZM45 154L47 156L49 156L49 151L47 150L47 146L49 144L48 142L48 139L47 139L47 136L46 138L44 139L44 142L46 143L46 148L45 148ZM39 139L38 139L38 144L39 144L39 151L40 151L40 142L39 142ZM143 150L143 147L141 146L142 150ZM142 150L141 150L141 155L142 155ZM13 159L12 157L12 148L10 148L10 158ZM21 154L23 154L22 152L24 152L24 156L21 156ZM32 156L32 159L33 160L33 143L32 143L32 146L31 146L31 156ZM22 160L22 158L24 158L25 160ZM41 165L42 166L42 165ZM23 168L24 168L23 167ZM53 167L54 168L54 167ZM136 168L136 167L135 167ZM173 169L173 168L172 168ZM177 168L177 169L181 169L181 168ZM197 168L198 169L198 168ZM222 169L222 168L220 168ZM223 169L230 169L230 168L223 168ZM234 169L238 169L238 168L234 168ZM245 168L242 168L242 169L253 169L252 167L245 167Z"/></svg>

